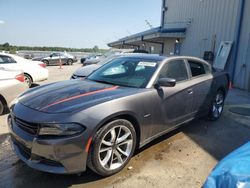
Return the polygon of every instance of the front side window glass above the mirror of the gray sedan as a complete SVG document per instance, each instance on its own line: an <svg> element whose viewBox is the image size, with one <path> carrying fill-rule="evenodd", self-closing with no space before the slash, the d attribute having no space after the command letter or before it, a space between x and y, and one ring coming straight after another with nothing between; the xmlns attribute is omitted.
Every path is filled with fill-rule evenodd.
<svg viewBox="0 0 250 188"><path fill-rule="evenodd" d="M183 60L168 62L161 70L159 78L173 78L176 82L188 79L186 64Z"/></svg>

